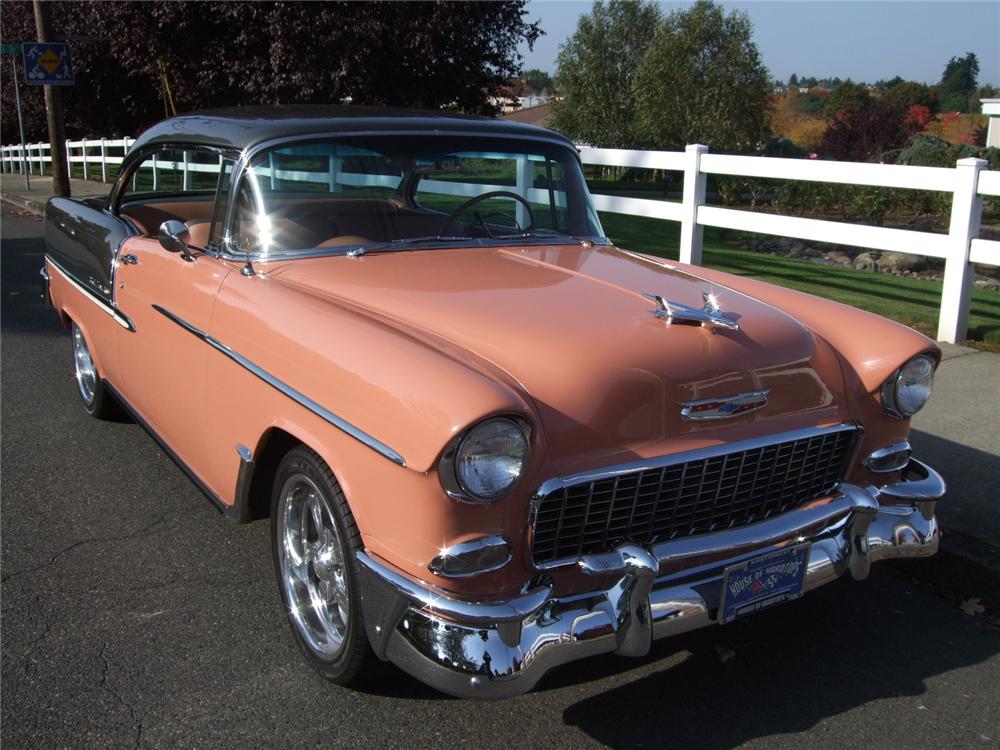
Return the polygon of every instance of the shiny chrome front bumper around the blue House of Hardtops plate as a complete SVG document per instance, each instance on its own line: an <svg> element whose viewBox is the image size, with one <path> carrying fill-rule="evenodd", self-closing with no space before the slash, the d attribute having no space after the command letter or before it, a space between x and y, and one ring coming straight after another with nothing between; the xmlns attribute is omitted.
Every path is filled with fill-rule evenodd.
<svg viewBox="0 0 1000 750"><path fill-rule="evenodd" d="M567 597L543 584L505 602L454 599L359 552L369 639L379 656L445 693L518 695L559 664L643 656L654 638L717 622L725 569L789 543L811 542L803 591L848 573L862 580L879 560L933 555L944 492L940 475L911 459L891 485L844 483L827 502L751 526L584 556L577 565L611 585Z"/></svg>

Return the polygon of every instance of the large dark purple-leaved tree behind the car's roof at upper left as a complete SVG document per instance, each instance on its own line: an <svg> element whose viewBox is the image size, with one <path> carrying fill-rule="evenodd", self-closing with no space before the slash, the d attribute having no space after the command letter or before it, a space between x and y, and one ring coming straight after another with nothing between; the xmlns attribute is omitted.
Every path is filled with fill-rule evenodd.
<svg viewBox="0 0 1000 750"><path fill-rule="evenodd" d="M134 135L163 117L160 64L177 108L337 103L492 114L520 73L518 45L541 34L524 0L435 2L53 3L73 45L70 137ZM35 38L30 3L4 2L3 41ZM265 31L262 31L265 30ZM137 43L141 40L141 43ZM11 101L6 70L3 98ZM31 87L34 88L34 87ZM27 125L44 113L28 92ZM3 140L16 115L3 110Z"/></svg>

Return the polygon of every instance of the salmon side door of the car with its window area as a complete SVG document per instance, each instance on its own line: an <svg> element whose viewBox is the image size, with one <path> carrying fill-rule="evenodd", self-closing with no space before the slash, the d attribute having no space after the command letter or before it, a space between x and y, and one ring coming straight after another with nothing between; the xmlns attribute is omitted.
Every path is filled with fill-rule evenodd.
<svg viewBox="0 0 1000 750"><path fill-rule="evenodd" d="M160 174L150 187L144 172L154 158ZM202 477L209 460L204 443L207 358L214 355L204 334L219 287L233 268L207 251L211 239L205 224L211 227L215 208L225 201L231 163L217 161L215 174L206 170L201 180L175 174L174 167L179 171L192 163L197 162L191 154L180 160L175 150L153 152L142 157L138 179L125 181L119 210L140 217L142 234L126 240L119 250L115 298L135 326L134 335L121 339L118 352L124 395L177 457ZM139 190L129 190L135 185ZM152 219L165 216L186 220L191 229L188 253L166 249L155 236L158 227L150 226ZM210 489L219 494L217 488Z"/></svg>

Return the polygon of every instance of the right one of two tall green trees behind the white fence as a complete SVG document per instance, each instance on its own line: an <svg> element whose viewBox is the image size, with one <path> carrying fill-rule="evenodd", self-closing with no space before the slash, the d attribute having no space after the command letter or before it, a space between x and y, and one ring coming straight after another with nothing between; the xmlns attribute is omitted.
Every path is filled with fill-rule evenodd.
<svg viewBox="0 0 1000 750"><path fill-rule="evenodd" d="M767 134L771 76L745 13L710 0L664 19L633 82L640 140L756 150Z"/></svg>

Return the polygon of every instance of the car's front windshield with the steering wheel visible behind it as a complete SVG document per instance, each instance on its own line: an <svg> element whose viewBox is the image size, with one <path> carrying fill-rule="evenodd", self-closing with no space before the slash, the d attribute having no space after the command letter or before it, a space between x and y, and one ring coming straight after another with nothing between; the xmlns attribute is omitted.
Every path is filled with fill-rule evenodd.
<svg viewBox="0 0 1000 750"><path fill-rule="evenodd" d="M575 154L545 142L378 136L258 154L231 244L262 255L601 240Z"/></svg>

